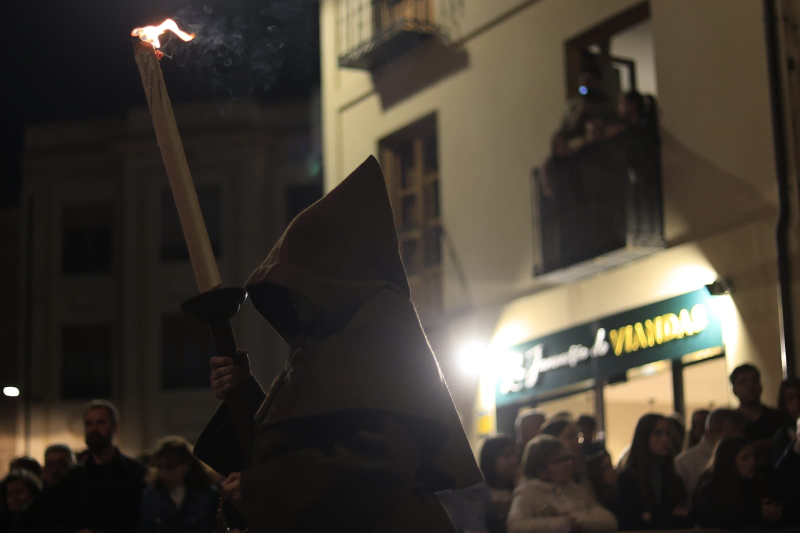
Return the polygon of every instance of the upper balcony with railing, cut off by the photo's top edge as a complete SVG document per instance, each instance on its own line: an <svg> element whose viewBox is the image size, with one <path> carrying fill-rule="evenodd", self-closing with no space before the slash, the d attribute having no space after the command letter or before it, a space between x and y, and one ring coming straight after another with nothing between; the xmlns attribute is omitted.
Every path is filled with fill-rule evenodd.
<svg viewBox="0 0 800 533"><path fill-rule="evenodd" d="M338 17L339 66L374 73L423 42L446 44L433 0L340 0Z"/></svg>

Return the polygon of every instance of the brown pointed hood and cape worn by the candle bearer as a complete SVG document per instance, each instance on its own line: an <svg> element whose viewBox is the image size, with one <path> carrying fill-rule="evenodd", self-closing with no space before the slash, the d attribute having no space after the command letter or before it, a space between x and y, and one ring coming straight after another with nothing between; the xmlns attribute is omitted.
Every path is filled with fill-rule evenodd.
<svg viewBox="0 0 800 533"><path fill-rule="evenodd" d="M300 346L266 425L342 410L386 412L410 422L430 490L482 481L410 300L375 158L294 218L247 291L283 339Z"/></svg>

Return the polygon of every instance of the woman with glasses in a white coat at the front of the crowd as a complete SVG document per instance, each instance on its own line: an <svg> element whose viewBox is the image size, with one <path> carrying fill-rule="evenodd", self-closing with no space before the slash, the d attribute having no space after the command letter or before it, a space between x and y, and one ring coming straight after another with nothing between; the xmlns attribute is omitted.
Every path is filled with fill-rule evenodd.
<svg viewBox="0 0 800 533"><path fill-rule="evenodd" d="M572 455L550 435L539 435L522 454L525 478L514 489L509 533L606 533L617 519L574 482Z"/></svg>

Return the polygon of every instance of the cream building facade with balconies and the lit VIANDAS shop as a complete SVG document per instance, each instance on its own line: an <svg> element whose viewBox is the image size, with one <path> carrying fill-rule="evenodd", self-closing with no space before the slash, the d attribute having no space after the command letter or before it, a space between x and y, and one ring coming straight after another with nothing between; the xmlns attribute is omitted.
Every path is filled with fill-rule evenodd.
<svg viewBox="0 0 800 533"><path fill-rule="evenodd" d="M475 446L536 406L597 415L618 456L648 411L735 405L727 375L745 362L777 402L776 295L790 283L797 308L800 293L797 268L778 275L764 19L722 0L321 2L326 190L382 162ZM786 119L796 85L778 78ZM643 95L644 137L570 130L598 83L614 114L617 94Z"/></svg>

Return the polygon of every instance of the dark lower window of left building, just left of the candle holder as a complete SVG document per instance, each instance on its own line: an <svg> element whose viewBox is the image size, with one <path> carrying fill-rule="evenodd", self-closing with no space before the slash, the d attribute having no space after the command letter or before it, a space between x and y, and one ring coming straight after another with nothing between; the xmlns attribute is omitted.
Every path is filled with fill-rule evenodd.
<svg viewBox="0 0 800 533"><path fill-rule="evenodd" d="M217 355L206 323L186 315L166 315L161 327L161 386L208 386L208 360Z"/></svg>

